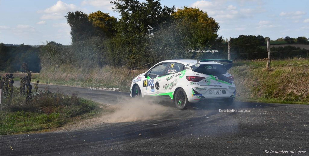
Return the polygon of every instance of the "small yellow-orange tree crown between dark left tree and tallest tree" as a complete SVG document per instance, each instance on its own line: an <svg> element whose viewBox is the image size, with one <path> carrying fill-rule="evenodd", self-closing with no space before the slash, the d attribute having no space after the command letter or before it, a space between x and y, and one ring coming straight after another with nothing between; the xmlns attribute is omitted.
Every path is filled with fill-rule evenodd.
<svg viewBox="0 0 309 156"><path fill-rule="evenodd" d="M116 34L117 19L114 16L110 16L108 13L102 11L96 11L88 15L89 21L95 28L95 36L99 37L111 37Z"/></svg>

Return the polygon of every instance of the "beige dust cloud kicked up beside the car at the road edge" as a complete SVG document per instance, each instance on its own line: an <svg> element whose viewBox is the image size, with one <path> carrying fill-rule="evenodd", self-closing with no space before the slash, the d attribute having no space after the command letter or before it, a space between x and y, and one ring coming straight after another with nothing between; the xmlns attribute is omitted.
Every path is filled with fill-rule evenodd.
<svg viewBox="0 0 309 156"><path fill-rule="evenodd" d="M113 113L101 117L105 123L162 119L175 112L172 102L159 104L149 98L123 98ZM162 103L162 102L161 102Z"/></svg>

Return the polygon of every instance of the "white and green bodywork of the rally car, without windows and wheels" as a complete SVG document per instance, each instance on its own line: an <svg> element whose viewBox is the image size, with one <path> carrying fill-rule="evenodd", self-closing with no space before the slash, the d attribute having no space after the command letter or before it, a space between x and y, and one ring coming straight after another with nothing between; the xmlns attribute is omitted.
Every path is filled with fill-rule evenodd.
<svg viewBox="0 0 309 156"><path fill-rule="evenodd" d="M169 69L171 71L171 74L164 75L164 76L152 76L151 78L147 76L145 78L145 74L149 73L150 69L156 67L157 65L161 63L168 63L167 65L176 64L179 68L180 64L184 65L184 70L181 70L180 72L173 73L174 70L172 70L171 67L168 67L166 69L167 72L169 72ZM171 64L170 64L171 63ZM197 64L197 60L188 60L188 59L180 59L180 60L167 60L162 61L151 67L147 72L142 73L138 76L136 76L132 80L131 84L131 97L133 96L133 85L138 85L142 97L145 96L169 96L171 99L173 99L175 90L178 88L184 89L189 102L199 102L204 99L213 99L213 98L235 98L236 93L236 87L234 82L229 81L226 82L226 77L231 76L228 72L226 74L213 76L213 75L206 75L201 74L198 72L192 71L192 66L194 67ZM200 65L222 65L221 63L217 62L201 62ZM189 68L190 67L190 68ZM207 66L208 69L208 66ZM199 77L205 77L204 80L201 80L199 82L192 82L188 81L186 79L186 76L199 76ZM218 80L216 79L218 77ZM222 80L221 80L222 79ZM224 79L224 80L223 80ZM224 91L223 91L224 90ZM200 95L201 94L201 95Z"/></svg>

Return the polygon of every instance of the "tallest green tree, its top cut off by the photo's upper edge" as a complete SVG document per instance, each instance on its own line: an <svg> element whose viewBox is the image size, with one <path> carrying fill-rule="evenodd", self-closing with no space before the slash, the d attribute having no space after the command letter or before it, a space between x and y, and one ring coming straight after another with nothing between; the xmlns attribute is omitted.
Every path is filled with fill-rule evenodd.
<svg viewBox="0 0 309 156"><path fill-rule="evenodd" d="M162 7L159 0L120 0L112 2L114 11L121 14L117 22L117 34L108 47L114 56L114 65L138 67L149 63L149 35L160 25L171 21L175 7Z"/></svg>

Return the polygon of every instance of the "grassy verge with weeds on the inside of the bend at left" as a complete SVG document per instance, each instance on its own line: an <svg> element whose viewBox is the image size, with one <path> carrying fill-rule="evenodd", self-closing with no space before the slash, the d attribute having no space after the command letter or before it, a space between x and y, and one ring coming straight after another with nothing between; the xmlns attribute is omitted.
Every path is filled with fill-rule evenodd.
<svg viewBox="0 0 309 156"><path fill-rule="evenodd" d="M2 101L0 135L48 131L66 123L93 118L102 112L97 102L49 91L34 93L33 100L25 103L25 96L17 94ZM10 100L9 100L10 99Z"/></svg>

